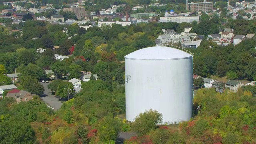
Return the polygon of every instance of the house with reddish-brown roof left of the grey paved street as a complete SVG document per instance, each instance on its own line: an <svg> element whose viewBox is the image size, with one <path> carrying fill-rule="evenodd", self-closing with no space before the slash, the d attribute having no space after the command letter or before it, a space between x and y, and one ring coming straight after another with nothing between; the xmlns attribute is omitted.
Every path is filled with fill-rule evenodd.
<svg viewBox="0 0 256 144"><path fill-rule="evenodd" d="M30 92L26 92L25 90L17 90L13 89L9 91L6 95L8 98L14 98L17 103L19 102L27 102L33 99L33 96L36 94L31 94Z"/></svg>

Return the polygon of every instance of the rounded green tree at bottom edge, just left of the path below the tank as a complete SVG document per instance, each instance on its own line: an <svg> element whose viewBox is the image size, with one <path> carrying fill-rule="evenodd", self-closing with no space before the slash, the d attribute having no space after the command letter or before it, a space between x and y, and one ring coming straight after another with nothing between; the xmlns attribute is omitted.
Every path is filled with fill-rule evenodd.
<svg viewBox="0 0 256 144"><path fill-rule="evenodd" d="M98 126L98 135L102 142L116 140L120 132L121 122L119 119L105 117Z"/></svg>

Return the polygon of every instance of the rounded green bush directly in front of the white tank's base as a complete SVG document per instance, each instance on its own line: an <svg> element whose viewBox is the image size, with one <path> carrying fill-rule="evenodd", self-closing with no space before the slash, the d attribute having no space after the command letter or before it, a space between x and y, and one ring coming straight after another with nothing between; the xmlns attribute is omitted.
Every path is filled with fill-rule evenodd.
<svg viewBox="0 0 256 144"><path fill-rule="evenodd" d="M157 110L150 109L136 116L132 124L132 129L137 132L139 136L146 135L150 130L156 129L156 125L161 124L162 120L162 114Z"/></svg>

